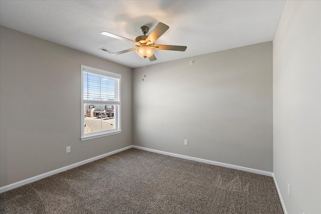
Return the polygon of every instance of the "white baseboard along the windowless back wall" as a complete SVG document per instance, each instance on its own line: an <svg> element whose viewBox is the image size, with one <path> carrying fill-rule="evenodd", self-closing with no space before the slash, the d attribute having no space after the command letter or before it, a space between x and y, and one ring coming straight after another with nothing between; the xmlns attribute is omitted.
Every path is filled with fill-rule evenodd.
<svg viewBox="0 0 321 214"><path fill-rule="evenodd" d="M169 156L173 156L173 157L194 160L194 161L198 161L198 162L202 162L202 163L208 163L208 164L212 164L212 165L223 166L223 167L232 168L232 169L238 169L238 170L252 172L252 173L256 173L256 174L267 175L270 177L273 176L273 172L269 172L269 171L262 171L259 169L252 169L252 168L247 168L247 167L243 167L243 166L237 166L237 165L233 165L233 164L217 162L217 161L213 161L213 160L206 160L206 159L201 159L201 158L197 158L197 157L190 157L190 156L186 156L186 155L182 155L182 154L175 154L175 153L166 152L166 151L159 151L159 150L149 149L149 148L145 148L145 147L141 147L141 146L133 145L132 147L136 148L136 149L144 150L144 151L150 151L150 152L165 154L165 155L169 155Z"/></svg>

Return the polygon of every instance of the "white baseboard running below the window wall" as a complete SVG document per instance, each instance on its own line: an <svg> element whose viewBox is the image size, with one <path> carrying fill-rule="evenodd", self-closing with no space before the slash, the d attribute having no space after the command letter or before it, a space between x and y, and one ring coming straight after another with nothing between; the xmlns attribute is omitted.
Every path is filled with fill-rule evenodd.
<svg viewBox="0 0 321 214"><path fill-rule="evenodd" d="M21 181L18 181L18 182L16 182L16 183L12 183L12 184L9 184L9 185L7 185L7 186L0 187L0 193L5 192L5 191L8 191L8 190L10 190L10 189L17 188L17 187L19 187L19 186L23 186L23 185L25 185L25 184L27 184L27 183L31 183L31 182L40 180L40 179L45 178L45 177L48 177L48 176L57 174L57 173L59 173L59 172L63 172L63 171L66 171L66 170L68 170L68 169L75 168L75 167L77 167L77 166L80 166L80 165L89 163L89 162L91 162L91 161L98 160L98 159L103 158L103 157L107 157L107 156L109 156L109 155L112 155L112 154L115 154L115 153L118 153L118 152L121 152L121 151L130 149L130 148L132 148L132 145L127 146L127 147L124 147L124 148L121 148L121 149L117 149L117 150L115 150L115 151L111 151L111 152L108 152L108 153L105 153L105 154L102 154L102 155L98 155L98 156L96 156L96 157L92 157L92 158L89 158L89 159L87 159L87 160L83 160L83 161L80 161L80 162L78 162L78 163L74 163L74 164L71 164L71 165L68 165L68 166L59 168L59 169L55 169L55 170L53 170L53 171L49 171L49 172L46 172L46 173L43 173L43 174L40 174L40 175L31 177L31 178L27 178L27 179L25 179L25 180L21 180Z"/></svg>

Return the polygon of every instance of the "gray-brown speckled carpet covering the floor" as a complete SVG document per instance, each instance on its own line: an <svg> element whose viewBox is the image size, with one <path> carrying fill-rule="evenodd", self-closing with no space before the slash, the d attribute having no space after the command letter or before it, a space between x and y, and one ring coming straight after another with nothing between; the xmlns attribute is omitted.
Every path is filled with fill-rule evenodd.
<svg viewBox="0 0 321 214"><path fill-rule="evenodd" d="M138 149L0 194L1 213L283 213L272 177Z"/></svg>

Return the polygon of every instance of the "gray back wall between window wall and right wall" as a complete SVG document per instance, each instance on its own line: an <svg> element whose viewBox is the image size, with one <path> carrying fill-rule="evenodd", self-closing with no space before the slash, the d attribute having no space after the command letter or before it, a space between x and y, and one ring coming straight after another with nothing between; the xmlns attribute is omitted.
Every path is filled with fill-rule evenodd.
<svg viewBox="0 0 321 214"><path fill-rule="evenodd" d="M272 42L133 70L134 145L272 172L272 138Z"/></svg>

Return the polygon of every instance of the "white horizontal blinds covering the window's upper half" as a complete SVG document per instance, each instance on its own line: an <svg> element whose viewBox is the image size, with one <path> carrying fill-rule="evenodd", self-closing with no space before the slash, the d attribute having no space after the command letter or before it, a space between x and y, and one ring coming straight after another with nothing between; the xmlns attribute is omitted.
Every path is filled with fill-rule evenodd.
<svg viewBox="0 0 321 214"><path fill-rule="evenodd" d="M84 103L119 104L118 78L102 76L84 70Z"/></svg>

